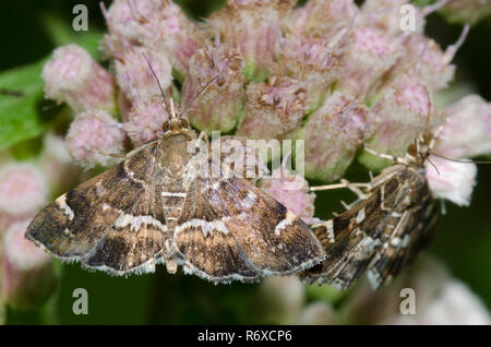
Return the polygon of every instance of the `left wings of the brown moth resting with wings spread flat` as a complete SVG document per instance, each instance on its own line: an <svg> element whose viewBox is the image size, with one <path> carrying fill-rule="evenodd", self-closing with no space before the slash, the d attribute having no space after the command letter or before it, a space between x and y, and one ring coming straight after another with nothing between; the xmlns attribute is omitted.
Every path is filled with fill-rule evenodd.
<svg viewBox="0 0 491 347"><path fill-rule="evenodd" d="M115 275L152 272L169 237L158 219L156 142L43 208L26 238L48 253Z"/></svg>

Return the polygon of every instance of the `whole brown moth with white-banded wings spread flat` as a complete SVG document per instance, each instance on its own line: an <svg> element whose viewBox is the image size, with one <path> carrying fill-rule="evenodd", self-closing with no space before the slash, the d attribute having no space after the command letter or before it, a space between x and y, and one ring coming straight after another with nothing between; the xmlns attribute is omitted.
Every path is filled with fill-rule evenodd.
<svg viewBox="0 0 491 347"><path fill-rule="evenodd" d="M164 129L41 210L26 237L55 256L115 275L166 262L215 283L255 282L322 261L310 228L272 196L242 178L200 175L213 160L207 142L189 151L194 140L184 120L171 118Z"/></svg>

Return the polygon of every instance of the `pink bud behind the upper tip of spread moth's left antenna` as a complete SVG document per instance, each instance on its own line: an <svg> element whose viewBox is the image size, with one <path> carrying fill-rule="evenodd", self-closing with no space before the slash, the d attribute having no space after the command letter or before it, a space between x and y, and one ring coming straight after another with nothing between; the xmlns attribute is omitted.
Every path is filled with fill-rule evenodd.
<svg viewBox="0 0 491 347"><path fill-rule="evenodd" d="M128 43L123 44L123 47L115 60L116 76L121 91L133 103L153 97L161 98L157 79L164 91L167 91L172 82L172 69L166 56L143 47L133 47ZM157 74L157 79L145 57Z"/></svg>

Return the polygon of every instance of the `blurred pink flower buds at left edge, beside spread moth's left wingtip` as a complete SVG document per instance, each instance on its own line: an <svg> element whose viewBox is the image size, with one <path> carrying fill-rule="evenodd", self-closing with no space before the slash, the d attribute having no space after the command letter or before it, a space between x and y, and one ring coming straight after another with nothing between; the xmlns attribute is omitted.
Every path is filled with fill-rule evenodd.
<svg viewBox="0 0 491 347"><path fill-rule="evenodd" d="M56 289L52 259L24 237L34 214L48 202L51 189L46 174L52 166L64 169L59 160L48 159L49 152L43 151L44 167L0 164L0 311L3 304L36 308Z"/></svg>

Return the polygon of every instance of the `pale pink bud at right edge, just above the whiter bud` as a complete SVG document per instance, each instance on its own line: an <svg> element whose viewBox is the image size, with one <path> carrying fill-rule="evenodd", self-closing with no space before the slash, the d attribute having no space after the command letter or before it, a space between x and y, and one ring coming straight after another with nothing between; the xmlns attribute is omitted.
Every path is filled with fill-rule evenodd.
<svg viewBox="0 0 491 347"><path fill-rule="evenodd" d="M448 117L434 152L450 158L491 153L491 104L468 95L443 110Z"/></svg>

